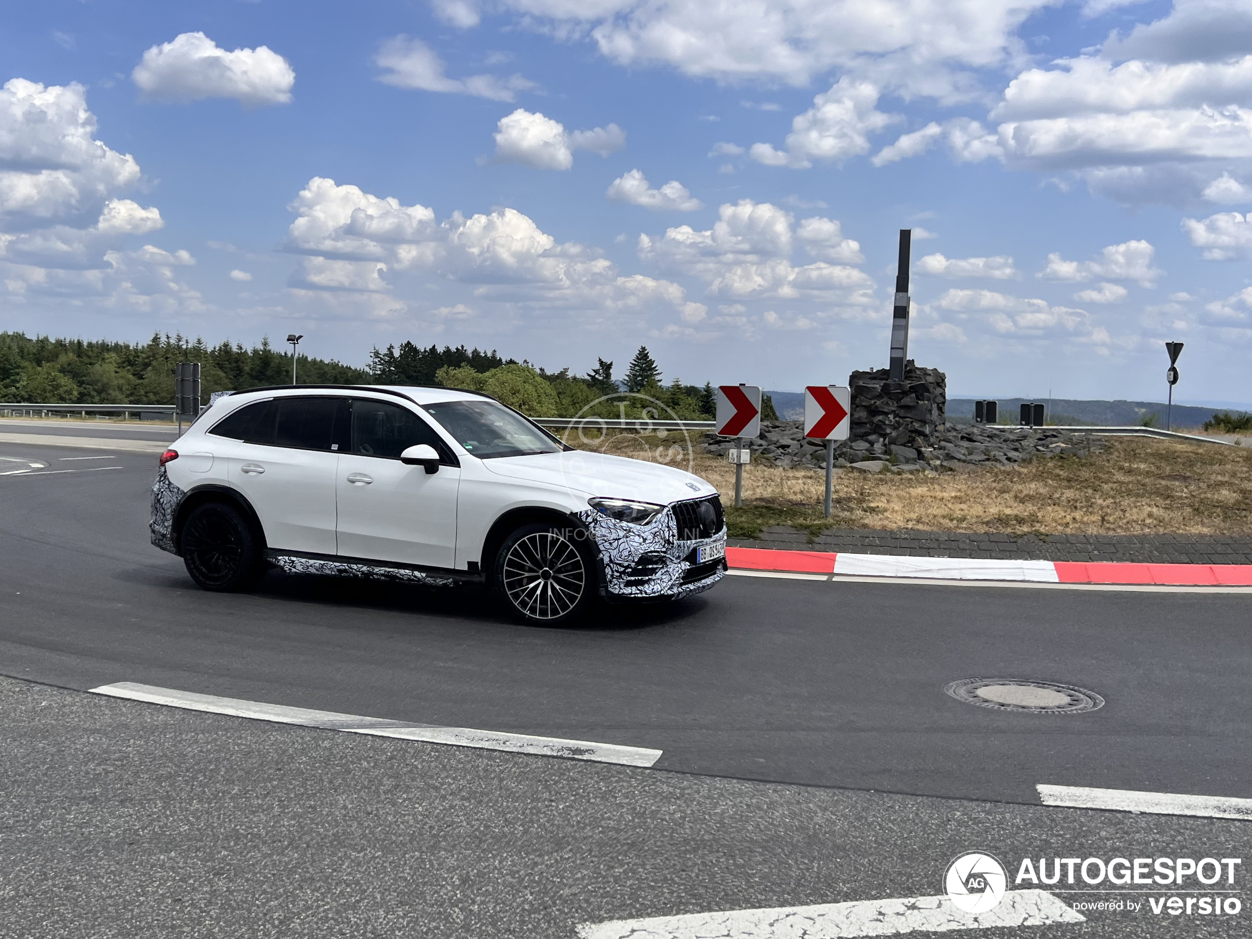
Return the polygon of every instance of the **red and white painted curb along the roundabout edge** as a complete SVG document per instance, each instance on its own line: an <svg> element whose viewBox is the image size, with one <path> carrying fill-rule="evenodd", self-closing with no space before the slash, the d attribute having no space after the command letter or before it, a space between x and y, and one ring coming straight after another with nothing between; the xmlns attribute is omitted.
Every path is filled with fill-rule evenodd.
<svg viewBox="0 0 1252 939"><path fill-rule="evenodd" d="M1156 565L1107 561L1000 561L964 557L850 555L727 547L731 571L777 571L844 577L915 577L1028 583L1124 583L1252 587L1252 565Z"/></svg>

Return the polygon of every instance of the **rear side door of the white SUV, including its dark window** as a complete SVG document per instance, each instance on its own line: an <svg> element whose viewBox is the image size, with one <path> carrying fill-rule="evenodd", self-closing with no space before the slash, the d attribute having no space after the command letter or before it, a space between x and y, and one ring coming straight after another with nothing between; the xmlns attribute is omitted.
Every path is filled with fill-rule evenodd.
<svg viewBox="0 0 1252 939"><path fill-rule="evenodd" d="M243 439L228 457L230 485L257 511L269 547L334 555L334 481L348 439L347 399L283 397L248 408L258 411L235 431Z"/></svg>

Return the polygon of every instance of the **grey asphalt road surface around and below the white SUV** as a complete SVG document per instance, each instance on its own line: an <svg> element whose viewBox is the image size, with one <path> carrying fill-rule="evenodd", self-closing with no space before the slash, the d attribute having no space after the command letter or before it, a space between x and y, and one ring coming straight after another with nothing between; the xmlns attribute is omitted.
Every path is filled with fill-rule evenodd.
<svg viewBox="0 0 1252 939"><path fill-rule="evenodd" d="M212 595L146 542L151 457L0 457L45 464L0 475L0 672L60 686L0 682L0 935L88 916L90 935L572 936L940 893L974 849L1252 855L1247 823L1045 809L1034 790L1252 796L1252 597L729 577L545 630L467 588L275 573ZM1107 704L944 695L974 676ZM61 690L118 681L665 752L634 770ZM1029 934L1249 934L1143 916Z"/></svg>

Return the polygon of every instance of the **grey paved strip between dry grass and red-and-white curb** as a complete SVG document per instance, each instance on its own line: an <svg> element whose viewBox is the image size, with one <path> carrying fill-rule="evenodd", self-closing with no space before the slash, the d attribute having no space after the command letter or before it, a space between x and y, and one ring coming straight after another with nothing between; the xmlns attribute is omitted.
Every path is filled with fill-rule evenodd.
<svg viewBox="0 0 1252 939"><path fill-rule="evenodd" d="M828 528L810 541L786 526L736 547L834 551L853 555L999 558L1004 561L1119 561L1129 563L1252 563L1252 537L1221 535L997 535L883 528Z"/></svg>

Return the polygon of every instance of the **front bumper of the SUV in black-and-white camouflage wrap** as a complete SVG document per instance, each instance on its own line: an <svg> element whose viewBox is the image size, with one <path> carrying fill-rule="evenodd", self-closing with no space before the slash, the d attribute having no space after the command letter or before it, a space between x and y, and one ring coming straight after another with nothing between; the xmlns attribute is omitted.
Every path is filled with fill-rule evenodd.
<svg viewBox="0 0 1252 939"><path fill-rule="evenodd" d="M725 541L726 527L707 538L679 538L671 507L647 525L618 522L593 508L577 513L587 526L605 570L605 592L613 598L677 598L702 593L726 576L726 561L695 562L696 548Z"/></svg>

